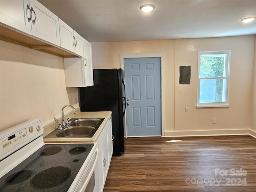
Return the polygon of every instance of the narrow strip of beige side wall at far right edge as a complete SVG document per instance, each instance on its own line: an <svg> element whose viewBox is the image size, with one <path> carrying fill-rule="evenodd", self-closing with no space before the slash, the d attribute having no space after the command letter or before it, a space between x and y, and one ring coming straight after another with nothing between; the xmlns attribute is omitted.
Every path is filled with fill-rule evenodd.
<svg viewBox="0 0 256 192"><path fill-rule="evenodd" d="M253 80L252 80L252 114L251 129L256 132L256 38L254 44L254 64L253 64Z"/></svg>

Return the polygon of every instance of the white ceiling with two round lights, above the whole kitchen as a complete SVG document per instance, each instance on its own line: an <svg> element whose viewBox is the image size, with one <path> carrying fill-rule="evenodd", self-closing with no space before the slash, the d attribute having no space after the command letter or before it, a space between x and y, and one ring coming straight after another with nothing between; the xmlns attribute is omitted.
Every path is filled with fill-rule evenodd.
<svg viewBox="0 0 256 192"><path fill-rule="evenodd" d="M89 42L256 34L256 0L39 0ZM152 3L150 13L140 11Z"/></svg>

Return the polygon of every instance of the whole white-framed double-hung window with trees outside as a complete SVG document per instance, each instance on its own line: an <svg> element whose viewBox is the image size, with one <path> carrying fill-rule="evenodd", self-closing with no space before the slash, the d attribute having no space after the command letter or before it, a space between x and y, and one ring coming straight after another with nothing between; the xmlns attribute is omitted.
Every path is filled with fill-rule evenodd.
<svg viewBox="0 0 256 192"><path fill-rule="evenodd" d="M230 51L198 52L197 107L227 107Z"/></svg>

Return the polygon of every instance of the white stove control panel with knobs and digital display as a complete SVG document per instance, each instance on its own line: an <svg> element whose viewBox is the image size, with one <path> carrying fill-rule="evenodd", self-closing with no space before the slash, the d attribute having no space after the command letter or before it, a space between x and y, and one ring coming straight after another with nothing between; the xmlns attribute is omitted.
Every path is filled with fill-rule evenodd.
<svg viewBox="0 0 256 192"><path fill-rule="evenodd" d="M40 119L34 119L1 131L1 160L42 136L44 129Z"/></svg>

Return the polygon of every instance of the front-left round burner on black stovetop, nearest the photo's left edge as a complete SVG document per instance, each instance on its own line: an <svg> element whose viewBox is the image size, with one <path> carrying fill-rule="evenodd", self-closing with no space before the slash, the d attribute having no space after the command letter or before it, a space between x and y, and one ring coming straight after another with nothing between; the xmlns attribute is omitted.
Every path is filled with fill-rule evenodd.
<svg viewBox="0 0 256 192"><path fill-rule="evenodd" d="M6 178L5 183L8 185L18 184L26 181L32 175L33 175L33 172L31 170L21 170L19 172L16 172L10 175L8 178Z"/></svg>

